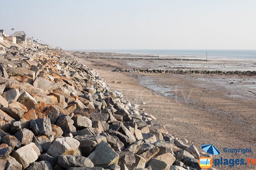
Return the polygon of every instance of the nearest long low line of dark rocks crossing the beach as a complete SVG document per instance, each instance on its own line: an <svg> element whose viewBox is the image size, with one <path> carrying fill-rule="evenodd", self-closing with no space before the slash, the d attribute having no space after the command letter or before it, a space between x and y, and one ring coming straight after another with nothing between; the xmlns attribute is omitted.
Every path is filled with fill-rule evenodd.
<svg viewBox="0 0 256 170"><path fill-rule="evenodd" d="M256 75L256 71L221 71L221 70L161 70L161 69L113 69L112 72L142 72L142 73L176 73L176 74L241 74Z"/></svg>

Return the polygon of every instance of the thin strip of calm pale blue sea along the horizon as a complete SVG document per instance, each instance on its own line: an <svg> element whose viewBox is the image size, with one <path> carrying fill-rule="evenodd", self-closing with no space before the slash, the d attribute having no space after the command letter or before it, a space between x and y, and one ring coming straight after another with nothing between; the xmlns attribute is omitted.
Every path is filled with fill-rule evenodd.
<svg viewBox="0 0 256 170"><path fill-rule="evenodd" d="M148 54L172 57L198 57L198 58L221 58L221 59L256 59L256 50L83 50L98 52L115 52L127 54Z"/></svg>

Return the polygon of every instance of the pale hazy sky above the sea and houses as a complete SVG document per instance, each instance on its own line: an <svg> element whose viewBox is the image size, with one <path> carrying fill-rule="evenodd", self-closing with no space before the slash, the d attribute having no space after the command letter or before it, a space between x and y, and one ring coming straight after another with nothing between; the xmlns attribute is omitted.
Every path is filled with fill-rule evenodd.
<svg viewBox="0 0 256 170"><path fill-rule="evenodd" d="M1 0L11 28L65 49L256 49L256 0Z"/></svg>

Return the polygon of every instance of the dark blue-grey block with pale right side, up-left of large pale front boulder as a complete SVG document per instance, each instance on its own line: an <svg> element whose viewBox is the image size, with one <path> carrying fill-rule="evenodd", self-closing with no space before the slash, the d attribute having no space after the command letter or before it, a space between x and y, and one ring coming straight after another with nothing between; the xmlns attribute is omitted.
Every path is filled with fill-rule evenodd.
<svg viewBox="0 0 256 170"><path fill-rule="evenodd" d="M49 136L52 132L52 126L50 119L36 119L36 120L30 120L30 126L32 132L36 136Z"/></svg>

